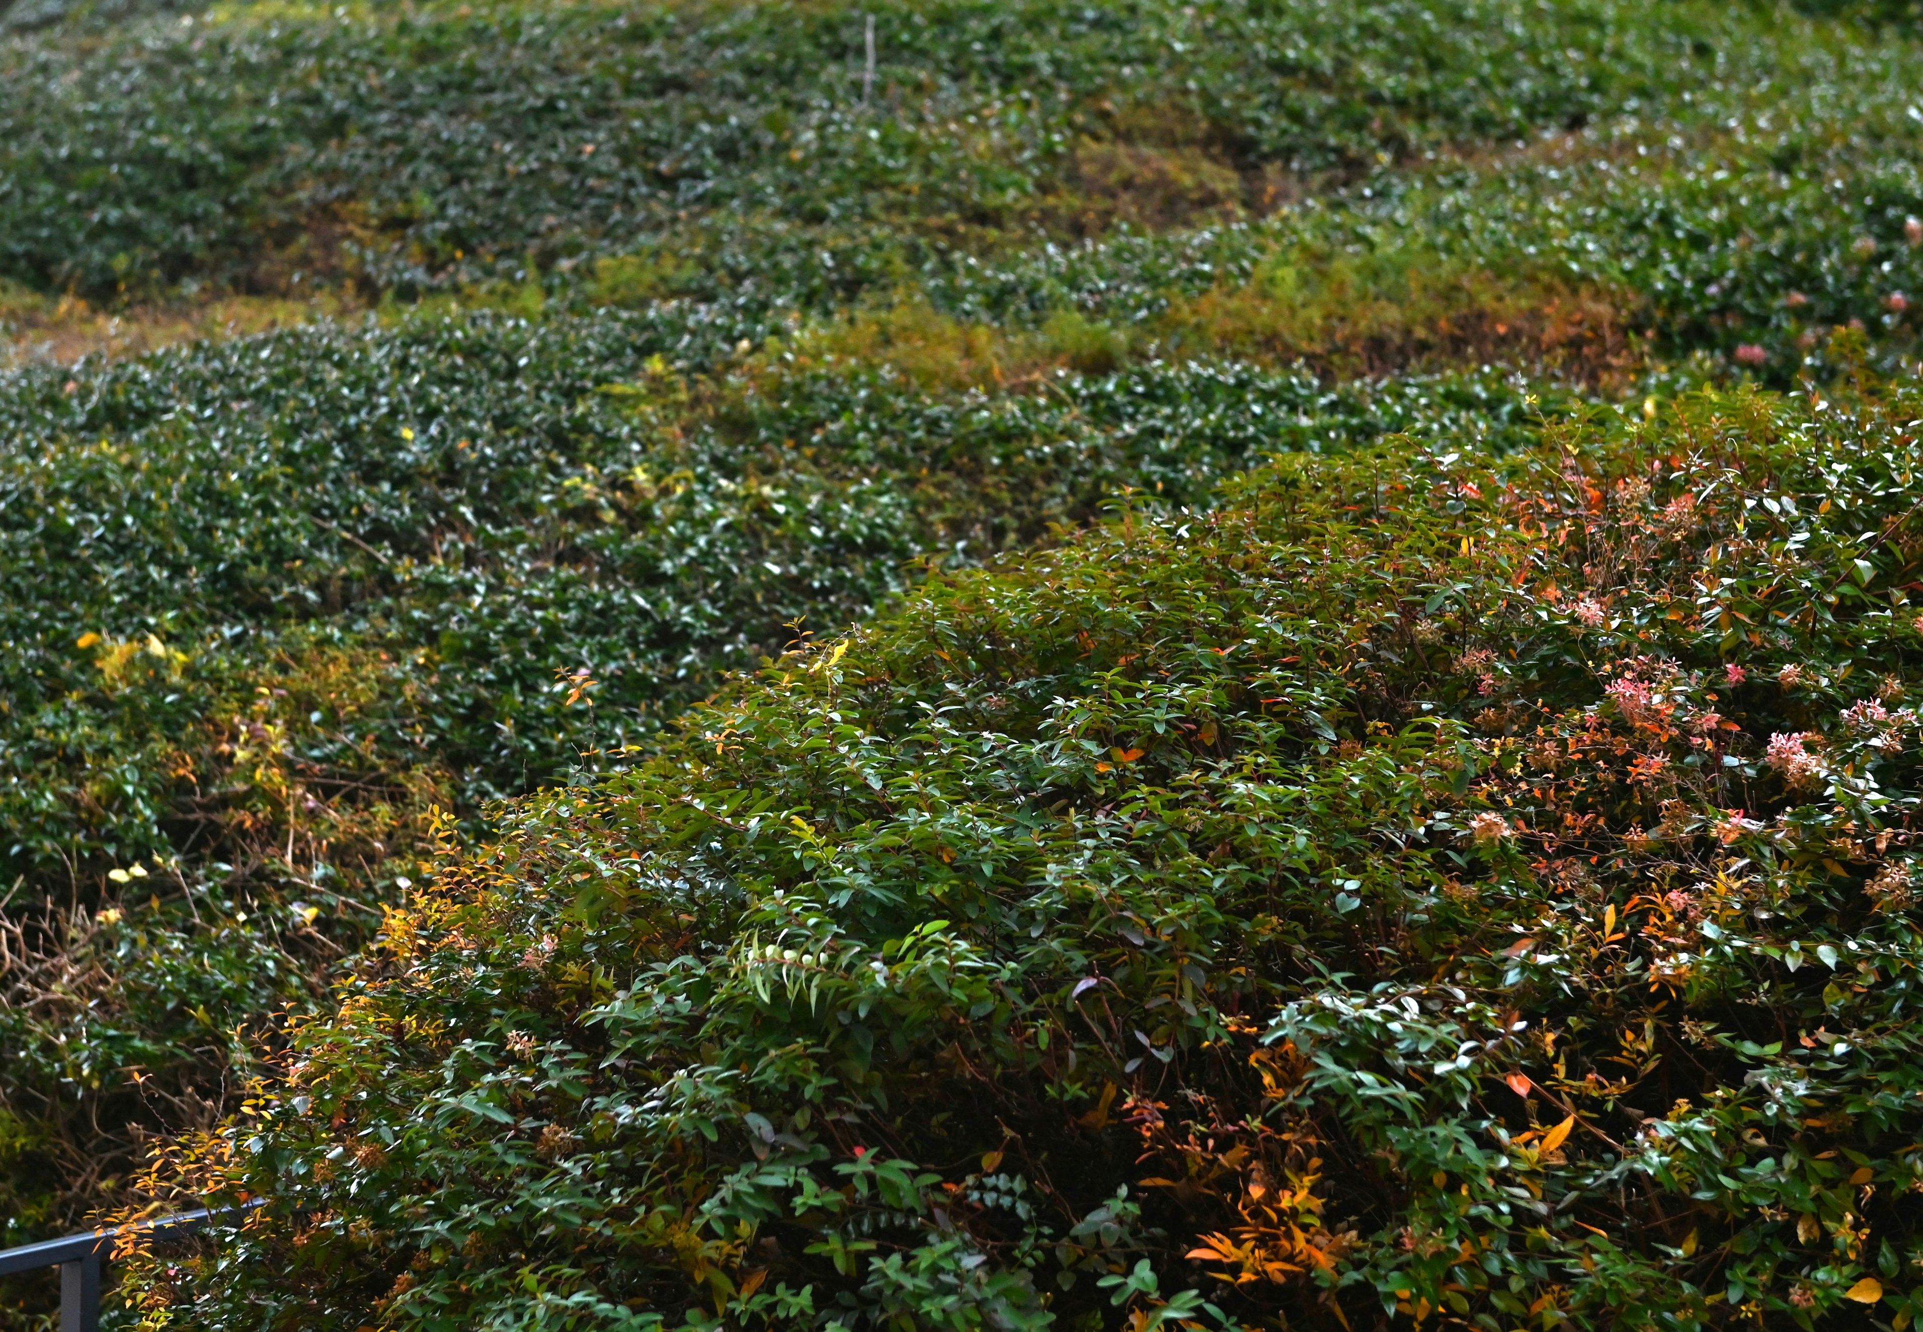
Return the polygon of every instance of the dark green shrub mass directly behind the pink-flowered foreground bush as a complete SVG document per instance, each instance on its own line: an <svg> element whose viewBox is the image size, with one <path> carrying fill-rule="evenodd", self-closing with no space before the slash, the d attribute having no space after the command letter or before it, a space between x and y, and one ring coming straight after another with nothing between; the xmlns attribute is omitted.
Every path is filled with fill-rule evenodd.
<svg viewBox="0 0 1923 1332"><path fill-rule="evenodd" d="M419 874L431 805L617 764L792 626L1115 489L1194 502L1273 450L1500 447L1523 418L1496 375L1144 364L990 397L662 360L704 337L671 310L419 318L6 385L35 447L0 460L0 882L15 912L125 914L27 912L44 964L4 978L0 1105L42 1126L71 1220L125 1168L125 1130L85 1124L171 1116L158 1089L217 1086L237 1024L312 1003ZM40 1188L8 1190L13 1224Z"/></svg>

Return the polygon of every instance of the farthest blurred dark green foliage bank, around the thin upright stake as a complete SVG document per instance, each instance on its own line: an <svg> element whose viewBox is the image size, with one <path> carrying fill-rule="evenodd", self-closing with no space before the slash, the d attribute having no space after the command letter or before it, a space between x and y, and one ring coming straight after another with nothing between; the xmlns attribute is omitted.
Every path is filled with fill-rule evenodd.
<svg viewBox="0 0 1923 1332"><path fill-rule="evenodd" d="M1727 31L1604 0L894 8L863 104L862 13L275 6L13 38L0 277L417 291L663 246L656 291L817 304L1035 227L1261 208L1661 104Z"/></svg>

